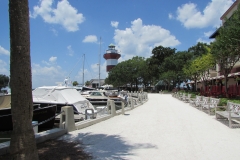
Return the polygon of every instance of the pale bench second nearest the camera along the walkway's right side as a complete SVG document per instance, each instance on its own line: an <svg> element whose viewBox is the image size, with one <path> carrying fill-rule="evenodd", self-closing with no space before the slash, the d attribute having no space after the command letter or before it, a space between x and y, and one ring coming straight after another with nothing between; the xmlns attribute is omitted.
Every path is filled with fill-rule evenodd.
<svg viewBox="0 0 240 160"><path fill-rule="evenodd" d="M201 104L201 110L206 111L209 115L212 113L214 114L215 108L217 108L219 102L220 99L218 98L206 97Z"/></svg>

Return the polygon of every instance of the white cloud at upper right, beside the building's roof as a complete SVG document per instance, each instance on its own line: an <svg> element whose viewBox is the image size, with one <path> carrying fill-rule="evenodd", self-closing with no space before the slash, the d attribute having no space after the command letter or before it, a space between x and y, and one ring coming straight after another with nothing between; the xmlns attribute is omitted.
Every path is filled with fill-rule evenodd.
<svg viewBox="0 0 240 160"><path fill-rule="evenodd" d="M232 5L233 0L212 0L203 11L197 4L186 3L177 9L177 20L186 28L219 27L220 17Z"/></svg>

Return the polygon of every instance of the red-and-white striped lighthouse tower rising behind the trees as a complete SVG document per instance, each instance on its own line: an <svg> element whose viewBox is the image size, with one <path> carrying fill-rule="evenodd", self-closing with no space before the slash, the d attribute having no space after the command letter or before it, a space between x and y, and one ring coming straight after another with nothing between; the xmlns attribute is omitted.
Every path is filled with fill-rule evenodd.
<svg viewBox="0 0 240 160"><path fill-rule="evenodd" d="M106 71L109 72L114 66L117 65L118 59L121 57L121 55L115 49L115 45L110 44L103 57L107 60Z"/></svg>

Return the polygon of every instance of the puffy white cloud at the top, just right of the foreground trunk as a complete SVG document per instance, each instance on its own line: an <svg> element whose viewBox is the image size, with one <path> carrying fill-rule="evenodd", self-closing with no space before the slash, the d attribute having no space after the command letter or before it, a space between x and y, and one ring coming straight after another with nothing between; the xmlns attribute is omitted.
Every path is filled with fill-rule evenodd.
<svg viewBox="0 0 240 160"><path fill-rule="evenodd" d="M39 6L34 6L30 17L36 18L39 15L46 23L60 24L67 31L79 30L78 25L85 20L83 14L78 13L68 0L58 1L55 9L52 6L53 2L54 0L40 0Z"/></svg>

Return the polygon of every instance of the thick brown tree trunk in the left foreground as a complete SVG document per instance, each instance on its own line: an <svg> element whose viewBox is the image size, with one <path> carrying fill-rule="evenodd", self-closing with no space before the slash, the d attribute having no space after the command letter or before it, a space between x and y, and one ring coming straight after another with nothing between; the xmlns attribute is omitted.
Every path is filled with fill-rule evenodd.
<svg viewBox="0 0 240 160"><path fill-rule="evenodd" d="M9 0L12 159L38 159L32 127L32 77L28 0Z"/></svg>

